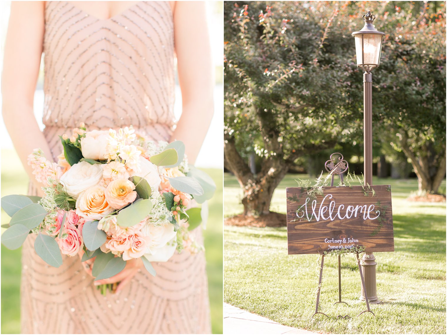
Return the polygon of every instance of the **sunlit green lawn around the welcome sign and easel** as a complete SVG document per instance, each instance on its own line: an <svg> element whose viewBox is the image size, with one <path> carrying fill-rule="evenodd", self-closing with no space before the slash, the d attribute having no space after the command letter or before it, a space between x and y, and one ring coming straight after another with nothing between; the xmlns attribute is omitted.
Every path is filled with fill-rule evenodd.
<svg viewBox="0 0 447 335"><path fill-rule="evenodd" d="M296 186L287 175L275 190L271 210L286 212L285 187ZM353 255L342 257L342 300L338 301L337 258L326 257L320 297L317 255L288 255L287 228L224 228L224 301L282 324L339 334L446 333L446 204L414 203L405 199L417 190L417 181L377 179L392 185L394 252L375 253L377 296L371 314L358 301L360 275ZM445 187L445 181L443 182ZM224 175L224 213L242 211L236 179ZM354 316L349 320L337 315Z"/></svg>

